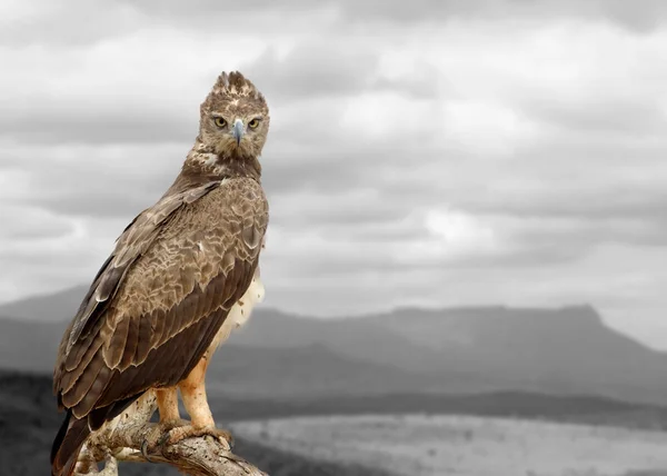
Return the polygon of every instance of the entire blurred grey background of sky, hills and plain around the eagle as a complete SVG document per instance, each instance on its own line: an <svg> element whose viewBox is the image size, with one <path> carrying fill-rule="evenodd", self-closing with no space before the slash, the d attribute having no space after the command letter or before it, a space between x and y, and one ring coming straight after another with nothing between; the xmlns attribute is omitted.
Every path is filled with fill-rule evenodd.
<svg viewBox="0 0 667 476"><path fill-rule="evenodd" d="M213 413L272 475L667 475L667 3L0 3L0 474L222 70L266 95L267 299ZM121 476L175 474L122 465Z"/></svg>

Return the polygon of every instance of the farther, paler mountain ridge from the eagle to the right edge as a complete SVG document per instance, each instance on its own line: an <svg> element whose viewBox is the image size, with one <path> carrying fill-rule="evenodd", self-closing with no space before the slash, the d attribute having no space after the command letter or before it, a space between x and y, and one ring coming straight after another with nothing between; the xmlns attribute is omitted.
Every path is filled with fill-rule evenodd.
<svg viewBox="0 0 667 476"><path fill-rule="evenodd" d="M402 308L327 320L261 310L233 339L321 344L358 360L497 388L667 403L667 354L610 329L590 306Z"/></svg>

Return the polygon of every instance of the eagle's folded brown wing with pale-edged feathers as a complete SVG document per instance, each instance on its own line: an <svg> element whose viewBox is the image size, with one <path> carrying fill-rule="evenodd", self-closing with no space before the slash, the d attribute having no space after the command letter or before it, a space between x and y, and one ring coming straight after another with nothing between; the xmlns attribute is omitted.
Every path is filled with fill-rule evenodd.
<svg viewBox="0 0 667 476"><path fill-rule="evenodd" d="M250 285L267 225L263 191L247 178L165 197L139 215L63 336L59 404L82 418L185 378Z"/></svg>

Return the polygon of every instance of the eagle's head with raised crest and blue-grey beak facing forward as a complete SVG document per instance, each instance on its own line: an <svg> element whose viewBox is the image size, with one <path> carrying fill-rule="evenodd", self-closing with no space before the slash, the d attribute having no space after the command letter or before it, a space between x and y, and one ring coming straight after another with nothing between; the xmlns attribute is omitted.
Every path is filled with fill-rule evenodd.
<svg viewBox="0 0 667 476"><path fill-rule="evenodd" d="M259 157L269 132L269 107L243 75L220 75L200 111L199 137L209 150L229 158Z"/></svg>

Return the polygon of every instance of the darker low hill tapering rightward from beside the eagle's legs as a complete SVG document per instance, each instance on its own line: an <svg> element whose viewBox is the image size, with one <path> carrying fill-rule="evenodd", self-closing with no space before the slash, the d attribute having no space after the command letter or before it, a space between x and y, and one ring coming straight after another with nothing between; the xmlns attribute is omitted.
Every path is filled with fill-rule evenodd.
<svg viewBox="0 0 667 476"><path fill-rule="evenodd" d="M397 393L484 391L494 386L465 375L408 373L331 351L321 344L287 349L222 346L207 374L211 391L236 398L375 397Z"/></svg>

